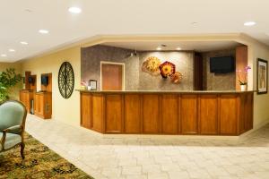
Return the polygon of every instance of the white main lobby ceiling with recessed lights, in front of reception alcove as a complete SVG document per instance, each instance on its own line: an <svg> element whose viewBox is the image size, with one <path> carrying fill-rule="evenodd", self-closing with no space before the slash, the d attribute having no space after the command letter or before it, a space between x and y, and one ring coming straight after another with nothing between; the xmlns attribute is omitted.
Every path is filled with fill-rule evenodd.
<svg viewBox="0 0 269 179"><path fill-rule="evenodd" d="M0 4L0 62L110 34L243 32L269 45L268 0L0 0ZM69 13L70 6L81 7L82 13ZM245 27L245 21L256 25ZM49 33L40 34L40 29Z"/></svg>

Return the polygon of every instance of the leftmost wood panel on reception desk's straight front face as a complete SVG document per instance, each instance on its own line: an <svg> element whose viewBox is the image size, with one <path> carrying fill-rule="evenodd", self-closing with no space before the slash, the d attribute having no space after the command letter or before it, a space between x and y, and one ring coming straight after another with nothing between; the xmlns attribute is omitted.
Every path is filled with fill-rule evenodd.
<svg viewBox="0 0 269 179"><path fill-rule="evenodd" d="M123 98L121 95L106 96L106 132L122 132Z"/></svg>

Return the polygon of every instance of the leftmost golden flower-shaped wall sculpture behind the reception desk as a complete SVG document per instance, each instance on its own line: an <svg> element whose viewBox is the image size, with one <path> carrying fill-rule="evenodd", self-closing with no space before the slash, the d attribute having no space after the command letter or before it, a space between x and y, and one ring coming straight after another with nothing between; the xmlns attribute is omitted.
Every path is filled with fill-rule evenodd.
<svg viewBox="0 0 269 179"><path fill-rule="evenodd" d="M155 56L148 57L142 65L142 71L148 72L154 76L160 74L159 66L161 64L161 60Z"/></svg>

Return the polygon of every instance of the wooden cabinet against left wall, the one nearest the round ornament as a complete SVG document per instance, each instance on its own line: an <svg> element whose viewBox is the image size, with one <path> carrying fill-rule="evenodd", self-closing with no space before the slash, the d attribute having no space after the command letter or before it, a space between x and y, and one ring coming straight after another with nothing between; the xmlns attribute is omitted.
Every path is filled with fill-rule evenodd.
<svg viewBox="0 0 269 179"><path fill-rule="evenodd" d="M34 94L35 115L43 119L50 119L52 114L51 92L36 92Z"/></svg>

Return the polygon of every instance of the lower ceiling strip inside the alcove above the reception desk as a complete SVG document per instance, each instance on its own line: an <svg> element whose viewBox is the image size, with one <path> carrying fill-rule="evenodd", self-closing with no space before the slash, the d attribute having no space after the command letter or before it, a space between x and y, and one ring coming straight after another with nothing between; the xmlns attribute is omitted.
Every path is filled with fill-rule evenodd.
<svg viewBox="0 0 269 179"><path fill-rule="evenodd" d="M137 51L155 51L161 45L161 50L192 50L196 52L209 52L221 49L231 49L240 44L234 41L139 41L139 42L107 42L102 45L112 47L122 47ZM179 48L179 49L178 49Z"/></svg>

